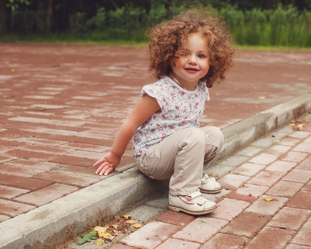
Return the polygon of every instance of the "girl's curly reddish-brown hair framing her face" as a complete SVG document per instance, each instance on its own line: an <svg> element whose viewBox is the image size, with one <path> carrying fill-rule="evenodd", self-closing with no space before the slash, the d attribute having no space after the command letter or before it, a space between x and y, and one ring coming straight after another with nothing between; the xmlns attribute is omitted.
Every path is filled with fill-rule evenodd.
<svg viewBox="0 0 311 249"><path fill-rule="evenodd" d="M211 88L225 80L225 72L235 62L236 48L226 24L200 8L191 8L147 30L149 36L149 71L159 80L174 66L173 59L182 55L181 44L191 33L200 33L209 50L209 71L200 80Z"/></svg>

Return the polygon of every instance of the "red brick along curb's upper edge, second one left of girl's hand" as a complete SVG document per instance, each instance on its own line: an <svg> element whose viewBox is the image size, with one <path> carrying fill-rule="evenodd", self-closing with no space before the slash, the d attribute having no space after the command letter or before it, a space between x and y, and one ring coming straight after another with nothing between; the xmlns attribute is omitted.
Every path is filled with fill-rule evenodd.
<svg viewBox="0 0 311 249"><path fill-rule="evenodd" d="M15 198L14 201L39 207L77 190L79 190L79 187L55 183L47 187L42 187L40 190L35 190L29 194L19 196Z"/></svg>

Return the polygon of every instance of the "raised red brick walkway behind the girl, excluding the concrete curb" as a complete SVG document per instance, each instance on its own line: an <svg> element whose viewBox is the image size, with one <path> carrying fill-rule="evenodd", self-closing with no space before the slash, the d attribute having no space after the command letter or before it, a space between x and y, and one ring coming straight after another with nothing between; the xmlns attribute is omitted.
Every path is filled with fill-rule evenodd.
<svg viewBox="0 0 311 249"><path fill-rule="evenodd" d="M0 44L0 58L5 221L102 180L93 163L154 80L144 48ZM310 91L310 61L305 51L241 51L201 124L224 128ZM118 170L129 167L130 145Z"/></svg>

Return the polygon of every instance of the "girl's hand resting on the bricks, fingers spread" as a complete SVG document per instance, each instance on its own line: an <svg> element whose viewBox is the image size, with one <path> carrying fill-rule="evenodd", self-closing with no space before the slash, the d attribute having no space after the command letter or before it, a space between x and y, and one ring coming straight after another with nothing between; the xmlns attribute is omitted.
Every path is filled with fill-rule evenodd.
<svg viewBox="0 0 311 249"><path fill-rule="evenodd" d="M102 159L94 163L93 167L98 167L95 174L107 176L110 172L115 171L115 167L120 164L121 157L115 156L109 151Z"/></svg>

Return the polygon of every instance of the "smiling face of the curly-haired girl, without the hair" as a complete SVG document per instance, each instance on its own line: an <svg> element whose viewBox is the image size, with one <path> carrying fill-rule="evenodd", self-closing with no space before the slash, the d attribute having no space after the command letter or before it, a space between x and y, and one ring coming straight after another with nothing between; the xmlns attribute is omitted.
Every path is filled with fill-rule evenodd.
<svg viewBox="0 0 311 249"><path fill-rule="evenodd" d="M199 33L192 33L187 42L182 44L182 48L185 54L173 59L172 73L182 86L193 91L198 80L209 71L207 42Z"/></svg>

